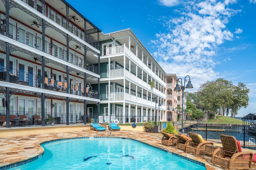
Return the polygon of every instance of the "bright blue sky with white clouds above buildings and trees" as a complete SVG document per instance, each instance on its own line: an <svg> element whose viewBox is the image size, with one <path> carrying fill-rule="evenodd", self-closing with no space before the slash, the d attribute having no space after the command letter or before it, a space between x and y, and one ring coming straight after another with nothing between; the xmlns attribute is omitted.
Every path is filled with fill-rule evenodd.
<svg viewBox="0 0 256 170"><path fill-rule="evenodd" d="M166 73L196 92L206 81L224 78L250 89L238 116L256 113L256 0L67 0L110 33L130 28Z"/></svg>

